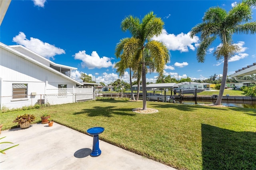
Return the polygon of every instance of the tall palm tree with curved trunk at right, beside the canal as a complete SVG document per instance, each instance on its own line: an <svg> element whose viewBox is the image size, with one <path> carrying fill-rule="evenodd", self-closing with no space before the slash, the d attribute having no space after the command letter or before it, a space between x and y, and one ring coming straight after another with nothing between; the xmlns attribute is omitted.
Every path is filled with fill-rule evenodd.
<svg viewBox="0 0 256 170"><path fill-rule="evenodd" d="M214 52L217 60L224 57L220 92L214 105L220 105L222 100L228 73L228 59L234 53L240 51L237 45L232 45L232 34L255 34L256 32L256 22L249 22L252 19L250 6L255 6L255 0L254 2L251 0L242 1L236 4L229 12L220 7L209 8L204 13L202 23L197 24L190 32L191 38L200 33L201 43L196 53L198 62L204 62L207 49L217 37L222 42L222 45L217 47Z"/></svg>

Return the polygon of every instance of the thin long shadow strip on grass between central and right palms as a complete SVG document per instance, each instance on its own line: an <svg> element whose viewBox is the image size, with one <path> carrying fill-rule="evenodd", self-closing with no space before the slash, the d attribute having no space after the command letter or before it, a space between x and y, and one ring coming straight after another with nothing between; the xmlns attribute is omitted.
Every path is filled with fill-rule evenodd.
<svg viewBox="0 0 256 170"><path fill-rule="evenodd" d="M210 107L210 106L202 106L202 105L183 105L183 104L170 104L170 105L161 105L161 104L151 104L153 107L158 107L158 108L172 108L172 109L177 109L180 111L195 111L198 108L202 109L216 109L216 110L226 110L221 107Z"/></svg>

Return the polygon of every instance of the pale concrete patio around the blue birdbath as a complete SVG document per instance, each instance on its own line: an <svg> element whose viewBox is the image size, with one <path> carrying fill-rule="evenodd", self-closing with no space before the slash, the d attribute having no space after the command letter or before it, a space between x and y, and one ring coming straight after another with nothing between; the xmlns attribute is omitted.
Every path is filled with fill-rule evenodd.
<svg viewBox="0 0 256 170"><path fill-rule="evenodd" d="M104 133L104 132L103 132ZM101 141L101 155L91 157L93 137L54 123L4 130L1 149L19 144L0 154L0 170L175 170Z"/></svg>

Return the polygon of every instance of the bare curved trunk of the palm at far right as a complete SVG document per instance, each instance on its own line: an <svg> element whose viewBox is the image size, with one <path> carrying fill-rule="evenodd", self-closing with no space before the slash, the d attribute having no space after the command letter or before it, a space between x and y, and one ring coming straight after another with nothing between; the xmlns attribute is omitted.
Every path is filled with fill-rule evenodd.
<svg viewBox="0 0 256 170"><path fill-rule="evenodd" d="M222 75L222 80L221 80L221 85L220 85L220 92L218 95L218 99L214 105L221 104L222 96L223 96L225 85L226 85L227 75L228 75L228 56L225 56L224 57L224 65L223 65L223 75Z"/></svg>

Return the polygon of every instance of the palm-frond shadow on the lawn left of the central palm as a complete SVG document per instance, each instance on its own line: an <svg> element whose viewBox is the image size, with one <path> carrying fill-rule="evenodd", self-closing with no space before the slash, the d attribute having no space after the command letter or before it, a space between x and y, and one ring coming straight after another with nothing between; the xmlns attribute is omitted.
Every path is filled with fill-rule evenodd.
<svg viewBox="0 0 256 170"><path fill-rule="evenodd" d="M136 115L134 112L132 112L132 109L115 109L114 106L108 106L108 107L100 107L95 106L93 109L83 109L80 112L74 113L74 115L79 114L87 114L90 117L95 116L104 116L104 117L112 117L113 115L122 115L122 116L134 116Z"/></svg>

